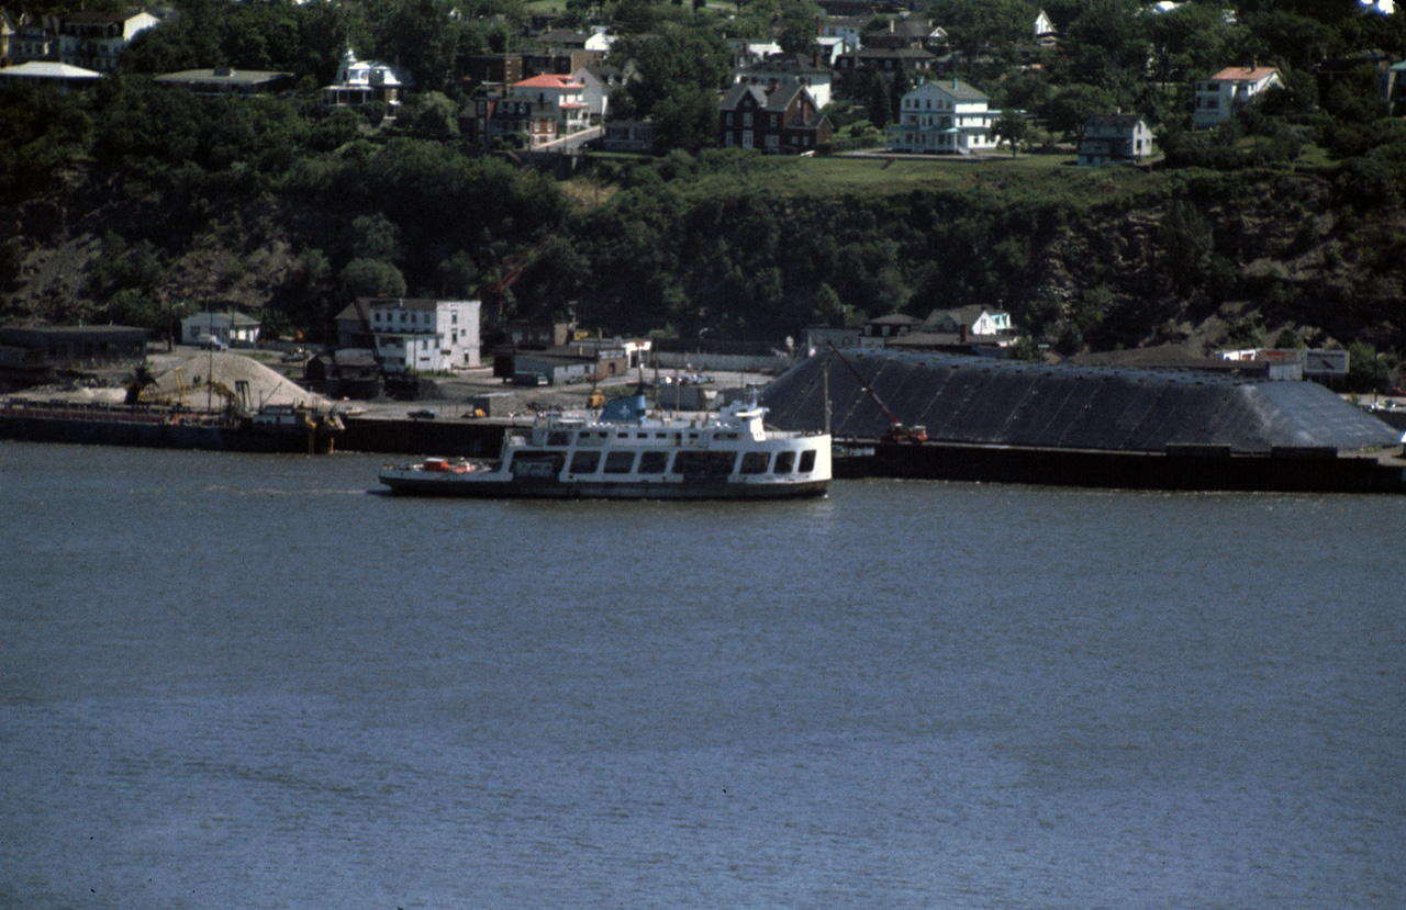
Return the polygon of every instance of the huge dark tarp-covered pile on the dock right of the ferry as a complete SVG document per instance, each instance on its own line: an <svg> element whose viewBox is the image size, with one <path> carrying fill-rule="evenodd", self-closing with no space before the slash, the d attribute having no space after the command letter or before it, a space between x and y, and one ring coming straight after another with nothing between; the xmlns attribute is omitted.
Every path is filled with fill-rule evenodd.
<svg viewBox="0 0 1406 910"><path fill-rule="evenodd" d="M1313 382L1209 372L1000 361L946 354L848 350L845 358L907 426L928 438L983 445L1163 452L1168 445L1233 452L1400 444L1400 434ZM820 430L825 375L831 431L876 438L890 424L832 354L797 364L762 392L768 423Z"/></svg>

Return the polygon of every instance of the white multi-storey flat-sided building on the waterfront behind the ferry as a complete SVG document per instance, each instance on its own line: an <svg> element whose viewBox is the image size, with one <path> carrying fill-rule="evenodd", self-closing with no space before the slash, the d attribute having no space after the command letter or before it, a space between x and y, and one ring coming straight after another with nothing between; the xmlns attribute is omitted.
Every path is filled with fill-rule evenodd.
<svg viewBox="0 0 1406 910"><path fill-rule="evenodd" d="M375 298L366 302L371 340L391 374L479 365L479 301Z"/></svg>

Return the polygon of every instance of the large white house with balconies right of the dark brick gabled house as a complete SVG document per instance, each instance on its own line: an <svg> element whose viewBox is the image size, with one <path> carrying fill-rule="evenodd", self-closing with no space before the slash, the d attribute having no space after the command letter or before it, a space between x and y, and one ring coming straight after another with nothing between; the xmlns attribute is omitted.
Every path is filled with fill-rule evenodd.
<svg viewBox="0 0 1406 910"><path fill-rule="evenodd" d="M1001 112L986 105L984 94L956 79L924 83L903 95L898 122L889 128L886 147L927 154L994 150Z"/></svg>

